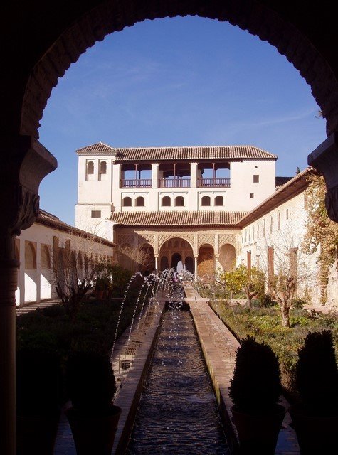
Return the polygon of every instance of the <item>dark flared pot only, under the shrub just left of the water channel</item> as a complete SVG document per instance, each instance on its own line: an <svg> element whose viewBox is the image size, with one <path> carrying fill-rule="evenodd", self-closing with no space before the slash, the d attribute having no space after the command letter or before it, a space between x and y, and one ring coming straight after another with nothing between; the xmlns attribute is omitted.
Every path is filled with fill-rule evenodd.
<svg viewBox="0 0 338 455"><path fill-rule="evenodd" d="M84 414L73 407L65 412L77 455L110 455L122 409L112 406L105 415Z"/></svg>

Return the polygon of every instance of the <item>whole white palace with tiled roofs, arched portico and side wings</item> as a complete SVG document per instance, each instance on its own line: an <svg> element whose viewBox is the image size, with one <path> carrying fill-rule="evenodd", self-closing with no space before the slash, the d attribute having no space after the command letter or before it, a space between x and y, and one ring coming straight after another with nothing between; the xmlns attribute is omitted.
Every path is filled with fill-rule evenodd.
<svg viewBox="0 0 338 455"><path fill-rule="evenodd" d="M273 274L280 257L290 258L297 273L298 263L310 269L299 296L306 292L315 304L325 291L327 305L338 304L336 268L321 289L317 255L302 257L300 248L310 168L276 177L278 157L255 146L120 149L100 142L76 153L76 227L41 211L17 238L17 302L53 296L50 257L76 250L85 231L99 257L127 266L144 251L151 260L136 269L174 267L206 281L241 263Z"/></svg>

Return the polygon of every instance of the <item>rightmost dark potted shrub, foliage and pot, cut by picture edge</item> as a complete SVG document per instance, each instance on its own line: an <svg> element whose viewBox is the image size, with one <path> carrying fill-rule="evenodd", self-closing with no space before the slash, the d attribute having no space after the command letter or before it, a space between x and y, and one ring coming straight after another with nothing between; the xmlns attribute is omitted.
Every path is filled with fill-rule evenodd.
<svg viewBox="0 0 338 455"><path fill-rule="evenodd" d="M338 443L338 368L331 331L307 334L295 383L299 398L289 412L300 453L332 453Z"/></svg>

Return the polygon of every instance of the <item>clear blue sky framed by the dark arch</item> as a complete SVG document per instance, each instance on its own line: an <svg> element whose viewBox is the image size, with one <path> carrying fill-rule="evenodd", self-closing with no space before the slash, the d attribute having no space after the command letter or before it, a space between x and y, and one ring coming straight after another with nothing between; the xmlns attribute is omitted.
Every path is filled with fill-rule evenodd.
<svg viewBox="0 0 338 455"><path fill-rule="evenodd" d="M96 43L58 81L40 141L58 169L41 208L75 221L76 149L247 144L277 154L294 176L324 139L325 122L300 73L268 43L228 23L166 18Z"/></svg>

